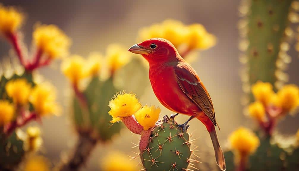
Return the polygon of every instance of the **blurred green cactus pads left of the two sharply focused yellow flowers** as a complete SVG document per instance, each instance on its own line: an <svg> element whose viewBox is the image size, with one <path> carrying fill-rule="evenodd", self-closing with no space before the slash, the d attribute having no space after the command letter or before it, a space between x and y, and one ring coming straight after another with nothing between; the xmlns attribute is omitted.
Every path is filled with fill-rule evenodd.
<svg viewBox="0 0 299 171"><path fill-rule="evenodd" d="M101 81L98 77L93 77L83 92L88 109L82 109L77 97L73 98L73 120L79 133L90 133L100 141L108 141L120 132L122 124L111 126L111 116L107 114L110 110L109 101L116 92L118 89L115 88L112 78Z"/></svg>

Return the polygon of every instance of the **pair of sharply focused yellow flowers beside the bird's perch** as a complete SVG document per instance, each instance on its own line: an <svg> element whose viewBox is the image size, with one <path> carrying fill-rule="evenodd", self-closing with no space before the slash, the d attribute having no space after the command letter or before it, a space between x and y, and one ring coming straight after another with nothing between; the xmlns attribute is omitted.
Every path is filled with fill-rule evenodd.
<svg viewBox="0 0 299 171"><path fill-rule="evenodd" d="M144 130L148 130L155 126L159 119L161 112L160 108L155 106L147 106L141 108L136 95L133 93L116 94L113 100L109 102L110 111L112 116L112 123L118 122L122 117L135 116L137 122L143 126Z"/></svg>

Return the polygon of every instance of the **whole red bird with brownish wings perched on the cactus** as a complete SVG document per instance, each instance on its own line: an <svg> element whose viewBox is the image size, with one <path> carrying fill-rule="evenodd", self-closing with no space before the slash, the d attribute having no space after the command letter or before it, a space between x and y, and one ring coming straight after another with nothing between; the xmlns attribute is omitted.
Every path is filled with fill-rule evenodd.
<svg viewBox="0 0 299 171"><path fill-rule="evenodd" d="M206 126L217 164L221 170L225 170L225 160L215 130L217 123L213 103L196 71L166 39L148 39L133 45L129 51L141 54L149 62L149 80L163 106L191 116L184 125L196 117Z"/></svg>

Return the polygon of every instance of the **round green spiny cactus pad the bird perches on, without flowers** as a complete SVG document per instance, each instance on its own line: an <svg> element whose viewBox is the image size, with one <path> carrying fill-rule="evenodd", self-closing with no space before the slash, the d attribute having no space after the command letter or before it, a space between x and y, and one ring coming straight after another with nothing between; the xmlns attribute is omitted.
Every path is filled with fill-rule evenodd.
<svg viewBox="0 0 299 171"><path fill-rule="evenodd" d="M172 118L155 126L147 149L141 154L142 164L147 171L187 170L190 163L189 134L182 130Z"/></svg>

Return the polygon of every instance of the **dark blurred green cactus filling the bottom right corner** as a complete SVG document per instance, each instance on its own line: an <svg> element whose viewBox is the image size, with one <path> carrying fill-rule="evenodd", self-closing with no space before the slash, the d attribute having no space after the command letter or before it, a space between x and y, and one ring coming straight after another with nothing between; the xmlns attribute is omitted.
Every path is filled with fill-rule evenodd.
<svg viewBox="0 0 299 171"><path fill-rule="evenodd" d="M249 157L249 166L246 170L298 170L299 148L291 153L284 151L276 143L271 143L269 137L259 137L260 146L257 151ZM234 170L234 153L224 153L227 170Z"/></svg>

